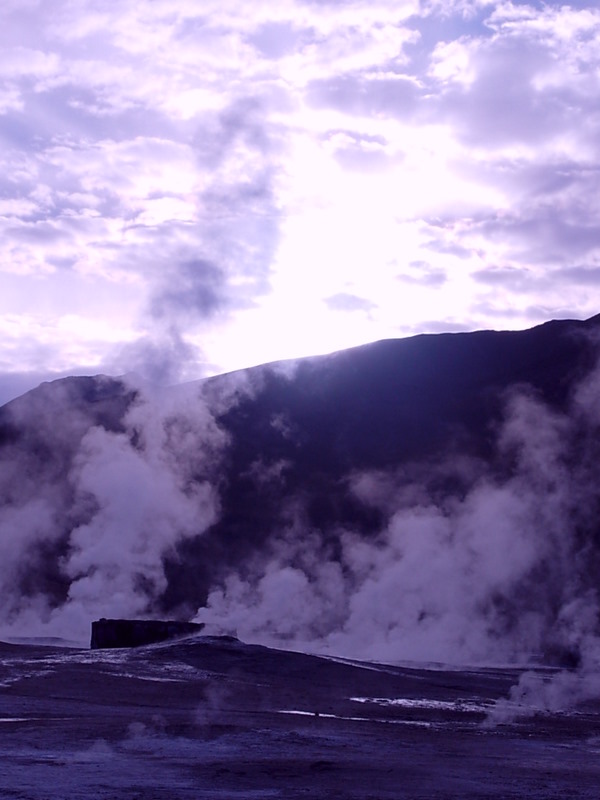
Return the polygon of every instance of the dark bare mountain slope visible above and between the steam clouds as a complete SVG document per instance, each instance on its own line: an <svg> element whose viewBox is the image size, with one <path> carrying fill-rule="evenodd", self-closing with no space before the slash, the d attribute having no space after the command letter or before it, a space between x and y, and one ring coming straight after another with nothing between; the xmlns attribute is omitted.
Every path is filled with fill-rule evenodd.
<svg viewBox="0 0 600 800"><path fill-rule="evenodd" d="M349 476L362 470L403 470L429 491L464 493L469 482L431 465L465 456L495 462L497 428L518 388L565 410L596 363L598 332L600 315L526 331L386 340L248 370L251 390L219 416L231 435L222 516L167 562L177 587L167 605L181 585L199 603L215 564L230 566L281 527L286 500L302 499L308 526L377 530L381 511L348 491ZM208 396L227 380L207 381Z"/></svg>

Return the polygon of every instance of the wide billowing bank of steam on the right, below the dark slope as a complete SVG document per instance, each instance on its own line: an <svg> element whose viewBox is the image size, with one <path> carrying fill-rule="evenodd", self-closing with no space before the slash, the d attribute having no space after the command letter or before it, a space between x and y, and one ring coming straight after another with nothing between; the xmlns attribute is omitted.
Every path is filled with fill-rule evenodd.
<svg viewBox="0 0 600 800"><path fill-rule="evenodd" d="M600 641L599 376L563 413L513 394L492 463L431 466L453 470L462 493L428 493L401 474L353 476L355 493L387 513L377 535L307 530L298 512L268 552L213 589L197 620L244 640L382 661L589 662Z"/></svg>

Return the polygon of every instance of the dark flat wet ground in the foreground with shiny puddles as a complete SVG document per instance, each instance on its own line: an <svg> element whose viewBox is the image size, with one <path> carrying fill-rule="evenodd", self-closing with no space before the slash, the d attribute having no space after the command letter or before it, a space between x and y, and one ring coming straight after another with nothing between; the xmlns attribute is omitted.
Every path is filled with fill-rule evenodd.
<svg viewBox="0 0 600 800"><path fill-rule="evenodd" d="M201 636L0 644L0 797L597 800L600 705L493 722L519 675Z"/></svg>

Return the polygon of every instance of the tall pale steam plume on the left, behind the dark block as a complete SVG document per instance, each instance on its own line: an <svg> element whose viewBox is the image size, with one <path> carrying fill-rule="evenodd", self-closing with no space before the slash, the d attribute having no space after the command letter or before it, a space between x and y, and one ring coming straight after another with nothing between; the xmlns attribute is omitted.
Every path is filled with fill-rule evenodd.
<svg viewBox="0 0 600 800"><path fill-rule="evenodd" d="M151 614L166 588L163 556L217 518L212 479L226 435L197 388L151 398L131 388L136 399L120 430L89 428L77 412L65 420L69 406L61 409L56 390L24 404L39 412L51 445L34 456L13 448L0 465L1 635L85 640L98 616ZM61 443L70 457L60 458ZM53 480L61 468L67 473ZM44 583L45 559L58 562L46 580L54 585Z"/></svg>

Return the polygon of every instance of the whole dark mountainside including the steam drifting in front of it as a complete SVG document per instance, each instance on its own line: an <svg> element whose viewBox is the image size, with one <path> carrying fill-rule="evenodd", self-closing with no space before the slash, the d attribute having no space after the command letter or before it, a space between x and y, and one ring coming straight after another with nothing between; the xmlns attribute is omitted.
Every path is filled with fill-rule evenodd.
<svg viewBox="0 0 600 800"><path fill-rule="evenodd" d="M599 329L388 340L162 392L43 384L0 409L6 625L207 605L352 655L579 653Z"/></svg>

